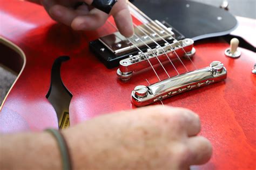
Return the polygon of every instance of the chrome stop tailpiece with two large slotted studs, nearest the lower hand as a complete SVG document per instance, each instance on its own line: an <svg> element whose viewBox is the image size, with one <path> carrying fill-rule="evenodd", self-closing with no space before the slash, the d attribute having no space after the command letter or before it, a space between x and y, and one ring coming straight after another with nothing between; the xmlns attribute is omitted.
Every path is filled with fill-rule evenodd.
<svg viewBox="0 0 256 170"><path fill-rule="evenodd" d="M164 98L183 93L187 90L224 80L226 77L227 70L223 63L213 61L210 67L197 69L193 72L171 77L169 79L151 84L147 87L137 86L132 91L131 100L134 105L143 107L145 105L163 100ZM142 95L138 95L137 91L142 89Z"/></svg>

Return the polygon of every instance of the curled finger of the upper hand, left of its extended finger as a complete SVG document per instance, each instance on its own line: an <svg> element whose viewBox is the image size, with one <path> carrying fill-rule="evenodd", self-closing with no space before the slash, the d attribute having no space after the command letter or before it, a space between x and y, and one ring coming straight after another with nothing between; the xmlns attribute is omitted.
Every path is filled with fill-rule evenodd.
<svg viewBox="0 0 256 170"><path fill-rule="evenodd" d="M85 16L77 16L71 26L74 30L95 30L102 26L107 18L106 13L95 8Z"/></svg>

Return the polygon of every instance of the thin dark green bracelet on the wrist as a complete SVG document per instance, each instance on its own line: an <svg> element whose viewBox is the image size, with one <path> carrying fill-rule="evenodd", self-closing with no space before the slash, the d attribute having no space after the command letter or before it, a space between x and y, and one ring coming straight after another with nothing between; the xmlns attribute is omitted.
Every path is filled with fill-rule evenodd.
<svg viewBox="0 0 256 170"><path fill-rule="evenodd" d="M45 131L51 133L57 140L60 154L62 156L63 170L71 170L72 166L71 166L68 145L66 144L66 141L62 133L60 133L60 131L56 129L46 129Z"/></svg>

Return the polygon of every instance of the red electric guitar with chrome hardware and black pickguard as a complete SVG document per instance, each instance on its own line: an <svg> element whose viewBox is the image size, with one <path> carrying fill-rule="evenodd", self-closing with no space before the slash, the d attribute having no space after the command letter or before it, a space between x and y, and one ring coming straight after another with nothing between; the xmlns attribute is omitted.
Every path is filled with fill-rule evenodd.
<svg viewBox="0 0 256 170"><path fill-rule="evenodd" d="M145 105L185 107L213 145L210 162L195 169L255 169L255 41L238 37L253 35L244 30L255 20L164 2L129 3L136 34L126 39L112 17L76 32L42 6L1 0L0 62L18 77L0 108L0 132L66 128ZM228 49L233 37L238 51Z"/></svg>

